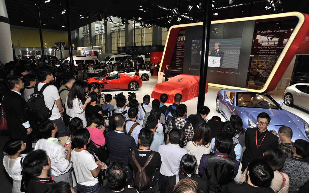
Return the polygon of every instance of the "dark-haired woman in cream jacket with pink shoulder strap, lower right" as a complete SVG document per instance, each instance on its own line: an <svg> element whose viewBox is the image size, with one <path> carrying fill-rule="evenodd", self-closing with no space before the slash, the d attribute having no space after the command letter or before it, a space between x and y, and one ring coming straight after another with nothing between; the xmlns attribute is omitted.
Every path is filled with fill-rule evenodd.
<svg viewBox="0 0 309 193"><path fill-rule="evenodd" d="M270 185L271 189L273 189L274 192L288 193L290 186L289 176L283 172L279 172L279 170L282 169L284 162L286 161L284 153L278 148L270 148L264 152L262 160L268 163L274 172L274 177ZM242 176L239 178L240 183L247 182L248 180L247 174L248 174L248 167L243 172ZM284 181L283 178L285 178L286 181Z"/></svg>

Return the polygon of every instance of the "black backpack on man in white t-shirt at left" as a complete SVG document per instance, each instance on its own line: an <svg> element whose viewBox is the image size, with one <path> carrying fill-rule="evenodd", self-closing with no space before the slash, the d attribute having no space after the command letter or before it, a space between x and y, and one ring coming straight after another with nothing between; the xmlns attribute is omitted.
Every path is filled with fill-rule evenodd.
<svg viewBox="0 0 309 193"><path fill-rule="evenodd" d="M49 110L45 105L43 91L50 84L45 83L41 90L38 91L38 84L34 86L34 93L30 95L28 102L26 103L26 109L33 120L43 121L48 119L52 115L52 110ZM55 106L55 102L53 107ZM52 107L52 109L53 109Z"/></svg>

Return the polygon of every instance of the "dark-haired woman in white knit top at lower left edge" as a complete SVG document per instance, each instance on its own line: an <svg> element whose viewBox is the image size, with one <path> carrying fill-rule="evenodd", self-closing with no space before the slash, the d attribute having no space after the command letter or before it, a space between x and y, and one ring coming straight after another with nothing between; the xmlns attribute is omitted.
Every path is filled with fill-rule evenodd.
<svg viewBox="0 0 309 193"><path fill-rule="evenodd" d="M20 175L22 170L22 156L20 155L20 152L22 152L26 148L26 143L24 143L20 139L12 139L7 141L3 148L3 165L6 172L13 179L13 193L20 192L20 184L22 177Z"/></svg>

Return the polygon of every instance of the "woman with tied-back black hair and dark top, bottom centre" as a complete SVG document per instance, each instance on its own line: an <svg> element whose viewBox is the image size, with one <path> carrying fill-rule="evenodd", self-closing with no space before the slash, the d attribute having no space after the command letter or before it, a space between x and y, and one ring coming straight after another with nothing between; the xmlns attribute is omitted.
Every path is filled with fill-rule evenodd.
<svg viewBox="0 0 309 193"><path fill-rule="evenodd" d="M177 181L180 181L182 179L192 179L199 185L201 191L208 192L207 187L208 183L204 179L197 177L195 174L195 171L197 170L197 160L196 157L185 154L181 160L180 160L180 174L179 176L170 176L168 178L165 192L172 193L173 189L176 185L176 178L178 178Z"/></svg>

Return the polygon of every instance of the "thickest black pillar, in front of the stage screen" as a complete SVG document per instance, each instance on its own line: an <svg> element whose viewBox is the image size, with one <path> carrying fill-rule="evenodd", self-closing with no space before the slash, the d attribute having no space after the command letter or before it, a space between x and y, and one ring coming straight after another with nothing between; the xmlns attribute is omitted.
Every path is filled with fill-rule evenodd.
<svg viewBox="0 0 309 193"><path fill-rule="evenodd" d="M200 72L200 84L198 89L197 98L197 111L198 108L204 105L205 102L205 90L207 80L207 61L209 52L209 38L210 38L210 23L211 23L211 7L212 1L204 0L204 19L203 19L203 39L202 39L202 58L201 58L201 72Z"/></svg>

